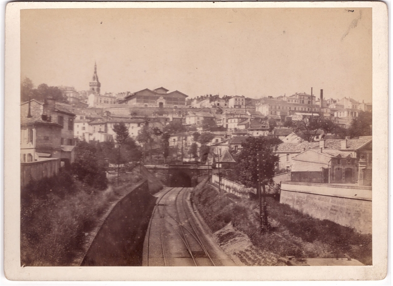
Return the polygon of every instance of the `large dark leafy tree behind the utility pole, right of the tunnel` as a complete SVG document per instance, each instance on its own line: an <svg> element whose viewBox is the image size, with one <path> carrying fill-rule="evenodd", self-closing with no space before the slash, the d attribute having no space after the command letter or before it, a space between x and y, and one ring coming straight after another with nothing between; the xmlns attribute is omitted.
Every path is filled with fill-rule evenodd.
<svg viewBox="0 0 393 286"><path fill-rule="evenodd" d="M256 188L258 180L258 153L263 155L265 183L274 176L275 165L279 158L272 154L271 147L277 144L277 138L252 137L242 143L242 149L235 155L235 171L240 183L249 188Z"/></svg>

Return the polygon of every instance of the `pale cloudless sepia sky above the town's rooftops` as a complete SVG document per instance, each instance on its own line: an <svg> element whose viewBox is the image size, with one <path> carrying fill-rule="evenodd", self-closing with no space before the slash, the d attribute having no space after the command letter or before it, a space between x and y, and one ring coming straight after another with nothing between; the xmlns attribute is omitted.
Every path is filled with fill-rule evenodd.
<svg viewBox="0 0 393 286"><path fill-rule="evenodd" d="M101 93L371 102L371 8L21 10L21 77Z"/></svg>

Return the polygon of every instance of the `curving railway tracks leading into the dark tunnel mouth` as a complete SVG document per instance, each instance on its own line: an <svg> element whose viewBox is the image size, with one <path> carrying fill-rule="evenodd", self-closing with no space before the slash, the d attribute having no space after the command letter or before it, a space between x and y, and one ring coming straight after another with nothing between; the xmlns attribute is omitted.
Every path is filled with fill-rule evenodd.
<svg viewBox="0 0 393 286"><path fill-rule="evenodd" d="M198 231L187 206L185 196L191 190L162 191L145 239L144 266L216 266L214 250Z"/></svg>

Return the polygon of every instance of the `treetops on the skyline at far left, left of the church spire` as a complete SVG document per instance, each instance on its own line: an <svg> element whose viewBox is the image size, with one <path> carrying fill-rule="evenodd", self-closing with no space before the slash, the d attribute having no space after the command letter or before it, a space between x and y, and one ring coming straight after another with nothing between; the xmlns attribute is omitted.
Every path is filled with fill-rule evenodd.
<svg viewBox="0 0 393 286"><path fill-rule="evenodd" d="M62 95L58 87L48 86L47 84L40 84L36 89L29 78L25 78L21 83L21 101L28 101L31 99L44 101L46 98L54 98L57 102L68 102L67 96Z"/></svg>

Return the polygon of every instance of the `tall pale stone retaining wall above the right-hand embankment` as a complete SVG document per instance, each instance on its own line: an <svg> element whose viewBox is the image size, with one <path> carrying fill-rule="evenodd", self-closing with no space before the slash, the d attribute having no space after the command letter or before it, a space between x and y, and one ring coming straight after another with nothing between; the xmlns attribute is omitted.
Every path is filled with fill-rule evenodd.
<svg viewBox="0 0 393 286"><path fill-rule="evenodd" d="M280 203L316 219L372 233L371 187L281 182Z"/></svg>

